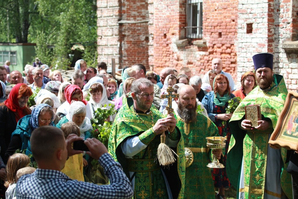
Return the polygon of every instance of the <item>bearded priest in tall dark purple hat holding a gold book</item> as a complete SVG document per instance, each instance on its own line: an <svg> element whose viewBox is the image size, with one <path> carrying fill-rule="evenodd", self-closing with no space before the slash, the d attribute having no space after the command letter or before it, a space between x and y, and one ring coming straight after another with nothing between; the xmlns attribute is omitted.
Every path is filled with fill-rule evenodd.
<svg viewBox="0 0 298 199"><path fill-rule="evenodd" d="M232 138L226 171L237 187L237 198L282 198L284 193L292 198L286 150L268 144L288 91L283 76L273 73L272 54L259 53L252 59L258 86L242 100L229 122ZM260 105L261 120L256 127L246 120L246 105Z"/></svg>

